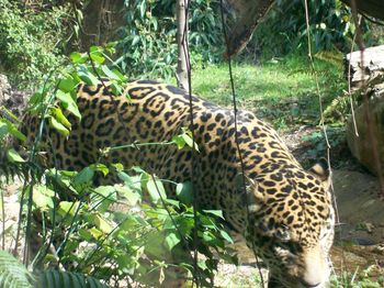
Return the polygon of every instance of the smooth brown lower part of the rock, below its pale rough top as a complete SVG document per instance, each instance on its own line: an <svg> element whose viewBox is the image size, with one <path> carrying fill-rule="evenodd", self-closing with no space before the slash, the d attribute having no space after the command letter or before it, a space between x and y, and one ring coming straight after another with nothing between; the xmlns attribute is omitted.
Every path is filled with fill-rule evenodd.
<svg viewBox="0 0 384 288"><path fill-rule="evenodd" d="M352 155L375 175L384 176L384 93L383 90L374 92L369 100L369 113L371 117L372 134L376 141L381 170L377 170L373 156L373 144L366 123L364 107L354 110L355 123L359 135L355 134L353 120L347 123L347 142Z"/></svg>

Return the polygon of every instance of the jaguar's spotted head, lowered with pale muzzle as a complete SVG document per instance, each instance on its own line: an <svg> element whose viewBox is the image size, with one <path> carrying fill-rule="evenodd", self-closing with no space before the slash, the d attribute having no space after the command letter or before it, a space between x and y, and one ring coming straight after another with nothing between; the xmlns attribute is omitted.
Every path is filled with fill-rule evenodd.
<svg viewBox="0 0 384 288"><path fill-rule="evenodd" d="M328 283L335 225L328 190L326 162L308 171L282 166L248 186L246 239L269 267L269 287Z"/></svg>

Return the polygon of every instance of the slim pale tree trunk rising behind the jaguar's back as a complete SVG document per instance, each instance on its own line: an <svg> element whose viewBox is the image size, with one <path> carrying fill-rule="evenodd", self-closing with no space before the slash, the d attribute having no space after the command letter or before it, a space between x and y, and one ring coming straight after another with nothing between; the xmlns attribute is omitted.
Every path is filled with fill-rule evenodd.
<svg viewBox="0 0 384 288"><path fill-rule="evenodd" d="M189 91L189 46L188 46L188 4L190 0L178 0L176 19L178 24L178 68L177 68L177 80L178 86Z"/></svg>

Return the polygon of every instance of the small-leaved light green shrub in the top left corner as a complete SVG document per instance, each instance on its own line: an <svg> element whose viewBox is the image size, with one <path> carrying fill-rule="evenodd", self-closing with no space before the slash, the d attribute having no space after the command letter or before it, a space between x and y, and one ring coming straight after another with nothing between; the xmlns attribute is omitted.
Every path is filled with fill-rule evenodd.
<svg viewBox="0 0 384 288"><path fill-rule="evenodd" d="M35 10L19 1L0 0L0 67L12 84L37 87L63 65L68 14L69 4Z"/></svg>

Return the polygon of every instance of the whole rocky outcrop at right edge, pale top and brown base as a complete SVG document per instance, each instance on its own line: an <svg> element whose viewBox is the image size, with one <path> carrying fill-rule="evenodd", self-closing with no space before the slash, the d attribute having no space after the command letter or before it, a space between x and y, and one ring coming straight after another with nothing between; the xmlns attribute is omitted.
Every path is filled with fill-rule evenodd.
<svg viewBox="0 0 384 288"><path fill-rule="evenodd" d="M353 52L346 59L353 93L361 102L354 110L357 129L352 117L347 124L348 146L369 170L384 177L384 45L366 48L363 55Z"/></svg>

